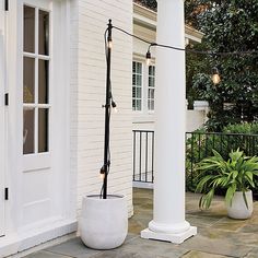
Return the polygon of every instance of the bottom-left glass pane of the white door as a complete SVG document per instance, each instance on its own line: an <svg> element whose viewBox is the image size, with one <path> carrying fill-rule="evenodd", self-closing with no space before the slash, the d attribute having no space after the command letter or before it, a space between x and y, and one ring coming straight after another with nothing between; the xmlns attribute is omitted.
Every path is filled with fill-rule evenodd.
<svg viewBox="0 0 258 258"><path fill-rule="evenodd" d="M23 154L34 153L35 109L23 109Z"/></svg>

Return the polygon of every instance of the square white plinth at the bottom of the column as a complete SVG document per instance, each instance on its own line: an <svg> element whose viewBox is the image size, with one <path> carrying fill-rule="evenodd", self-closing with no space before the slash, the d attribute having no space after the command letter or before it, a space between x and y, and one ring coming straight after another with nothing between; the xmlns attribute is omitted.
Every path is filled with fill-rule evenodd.
<svg viewBox="0 0 258 258"><path fill-rule="evenodd" d="M145 228L141 231L141 237L145 239L154 239L154 241L166 241L173 244L181 244L184 241L188 239L191 236L197 234L197 227L190 226L187 231L181 233L159 233L150 231Z"/></svg>

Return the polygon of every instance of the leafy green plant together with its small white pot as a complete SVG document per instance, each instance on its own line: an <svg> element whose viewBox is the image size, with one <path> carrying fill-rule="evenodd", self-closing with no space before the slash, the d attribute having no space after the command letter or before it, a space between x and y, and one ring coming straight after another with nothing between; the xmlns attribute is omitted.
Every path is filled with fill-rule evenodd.
<svg viewBox="0 0 258 258"><path fill-rule="evenodd" d="M215 189L225 189L227 214L233 219L247 219L253 213L253 195L255 188L254 176L258 175L258 157L247 157L243 151L232 151L225 161L219 152L199 163L201 174L196 188L202 192L199 207L208 209Z"/></svg>

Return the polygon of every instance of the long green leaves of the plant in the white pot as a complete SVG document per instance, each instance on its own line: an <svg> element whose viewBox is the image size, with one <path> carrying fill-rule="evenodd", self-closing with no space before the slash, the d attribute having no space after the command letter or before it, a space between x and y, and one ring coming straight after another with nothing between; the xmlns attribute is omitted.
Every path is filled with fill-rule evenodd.
<svg viewBox="0 0 258 258"><path fill-rule="evenodd" d="M245 191L255 188L254 176L258 176L258 157L247 157L237 149L231 151L230 159L225 161L221 154L212 150L213 156L202 160L198 164L201 171L196 191L204 194L199 201L199 207L208 209L218 188L225 188L225 202L232 206L236 191L243 191L245 204L248 208Z"/></svg>

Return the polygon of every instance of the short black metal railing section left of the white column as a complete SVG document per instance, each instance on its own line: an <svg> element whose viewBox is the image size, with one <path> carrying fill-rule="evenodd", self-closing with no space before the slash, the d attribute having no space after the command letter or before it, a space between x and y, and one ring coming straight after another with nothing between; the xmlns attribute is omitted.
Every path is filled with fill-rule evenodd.
<svg viewBox="0 0 258 258"><path fill-rule="evenodd" d="M153 183L154 179L154 131L132 131L132 180Z"/></svg>

